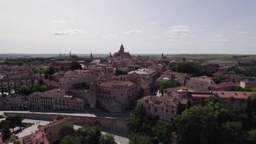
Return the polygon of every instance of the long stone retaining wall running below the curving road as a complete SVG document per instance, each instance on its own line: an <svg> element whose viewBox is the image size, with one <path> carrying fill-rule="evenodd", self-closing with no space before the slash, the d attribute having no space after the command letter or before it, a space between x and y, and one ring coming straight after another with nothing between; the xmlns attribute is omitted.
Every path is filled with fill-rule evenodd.
<svg viewBox="0 0 256 144"><path fill-rule="evenodd" d="M24 119L36 119L41 121L53 121L57 114L43 113L15 113L4 112L4 115L21 115ZM65 113L63 113L65 116ZM115 133L127 134L127 119L105 118L105 117L85 117L85 116L70 116L75 125L95 125L100 124L103 131L114 131Z"/></svg>

